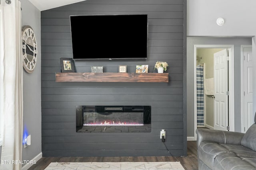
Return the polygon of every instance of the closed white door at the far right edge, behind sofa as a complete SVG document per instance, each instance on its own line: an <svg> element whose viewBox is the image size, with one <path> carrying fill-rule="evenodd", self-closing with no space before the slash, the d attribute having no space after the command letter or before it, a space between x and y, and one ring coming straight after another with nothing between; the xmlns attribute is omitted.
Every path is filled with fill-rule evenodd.
<svg viewBox="0 0 256 170"><path fill-rule="evenodd" d="M252 113L252 48L244 48L244 132L254 123Z"/></svg>

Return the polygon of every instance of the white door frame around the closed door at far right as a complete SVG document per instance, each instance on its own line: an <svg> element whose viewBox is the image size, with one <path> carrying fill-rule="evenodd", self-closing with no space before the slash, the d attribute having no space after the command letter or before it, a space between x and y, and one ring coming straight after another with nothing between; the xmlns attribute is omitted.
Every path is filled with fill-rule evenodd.
<svg viewBox="0 0 256 170"><path fill-rule="evenodd" d="M241 45L241 132L244 133L244 48L252 45Z"/></svg>

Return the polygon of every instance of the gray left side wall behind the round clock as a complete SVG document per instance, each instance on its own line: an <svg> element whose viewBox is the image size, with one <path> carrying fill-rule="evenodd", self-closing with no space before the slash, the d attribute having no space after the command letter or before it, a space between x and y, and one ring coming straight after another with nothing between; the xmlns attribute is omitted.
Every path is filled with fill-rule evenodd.
<svg viewBox="0 0 256 170"><path fill-rule="evenodd" d="M22 26L30 25L36 34L38 58L32 74L23 70L23 129L31 134L31 145L22 149L22 159L32 160L42 151L41 133L41 13L28 0L21 1Z"/></svg>

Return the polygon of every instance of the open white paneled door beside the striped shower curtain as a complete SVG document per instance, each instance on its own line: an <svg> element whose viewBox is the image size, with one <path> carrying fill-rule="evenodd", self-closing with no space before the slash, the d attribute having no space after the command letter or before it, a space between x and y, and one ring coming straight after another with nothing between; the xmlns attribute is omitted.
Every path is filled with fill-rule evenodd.
<svg viewBox="0 0 256 170"><path fill-rule="evenodd" d="M214 129L228 126L228 50L214 53Z"/></svg>

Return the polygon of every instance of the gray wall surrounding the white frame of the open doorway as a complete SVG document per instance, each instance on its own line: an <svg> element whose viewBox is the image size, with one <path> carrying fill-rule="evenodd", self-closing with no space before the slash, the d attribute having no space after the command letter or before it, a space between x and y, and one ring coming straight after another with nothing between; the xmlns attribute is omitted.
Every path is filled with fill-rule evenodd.
<svg viewBox="0 0 256 170"><path fill-rule="evenodd" d="M251 38L187 37L187 136L194 137L194 45L234 45L235 131L241 131L241 45L252 45ZM192 64L191 64L192 63Z"/></svg>

